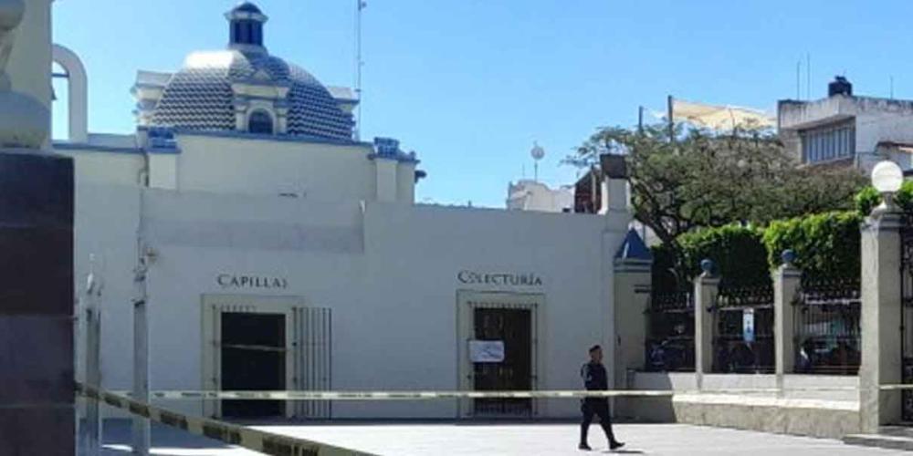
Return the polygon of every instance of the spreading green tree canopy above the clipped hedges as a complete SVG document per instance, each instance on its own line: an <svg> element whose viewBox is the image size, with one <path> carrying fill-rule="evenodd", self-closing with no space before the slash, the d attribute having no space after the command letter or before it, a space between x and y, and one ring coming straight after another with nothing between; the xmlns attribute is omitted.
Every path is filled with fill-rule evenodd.
<svg viewBox="0 0 913 456"><path fill-rule="evenodd" d="M589 167L603 153L626 156L635 219L666 244L729 223L766 225L806 213L851 210L866 183L854 169L800 167L771 132L713 134L666 126L598 130L565 159Z"/></svg>

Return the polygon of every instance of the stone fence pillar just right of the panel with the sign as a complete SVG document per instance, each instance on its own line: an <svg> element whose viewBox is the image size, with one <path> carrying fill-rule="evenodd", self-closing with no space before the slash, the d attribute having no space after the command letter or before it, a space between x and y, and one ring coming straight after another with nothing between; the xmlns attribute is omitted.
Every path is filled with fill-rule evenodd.
<svg viewBox="0 0 913 456"><path fill-rule="evenodd" d="M802 271L792 265L795 254L782 254L783 263L773 272L773 357L777 389L783 388L783 375L795 371L795 340L792 305L799 294Z"/></svg>

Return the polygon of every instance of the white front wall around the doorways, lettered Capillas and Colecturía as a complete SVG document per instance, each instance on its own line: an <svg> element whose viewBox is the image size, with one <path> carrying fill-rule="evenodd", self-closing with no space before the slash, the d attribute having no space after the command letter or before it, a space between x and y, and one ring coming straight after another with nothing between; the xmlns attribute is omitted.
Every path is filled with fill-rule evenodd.
<svg viewBox="0 0 913 456"><path fill-rule="evenodd" d="M545 296L539 389L579 387L586 347L613 341L605 253L623 239L622 213L377 202L362 212L358 202L149 194L147 239L158 253L149 273L152 389L201 387L201 296L225 293L215 281L222 273L285 277L287 289L255 295L295 295L332 309L334 389L456 389L457 290L510 291L461 284L461 270L542 277L541 286L513 290ZM572 416L571 402L540 410ZM455 415L453 401L333 407L335 418Z"/></svg>

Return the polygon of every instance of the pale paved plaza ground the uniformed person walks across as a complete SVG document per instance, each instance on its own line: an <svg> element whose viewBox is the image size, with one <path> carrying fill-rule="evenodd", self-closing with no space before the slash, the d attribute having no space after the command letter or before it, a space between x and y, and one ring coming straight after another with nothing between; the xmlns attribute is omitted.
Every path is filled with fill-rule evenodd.
<svg viewBox="0 0 913 456"><path fill-rule="evenodd" d="M578 451L577 426L567 424L331 424L320 426L258 426L258 429L320 440L354 450L383 455L582 455L610 453L598 427L590 431L592 452ZM696 427L680 424L616 425L619 439L627 442L617 454L840 456L887 455L902 451L845 445L820 440L745 430ZM129 426L116 422L106 427L105 456L129 454ZM248 456L258 453L228 448L212 440L188 437L176 430L156 428L155 455Z"/></svg>

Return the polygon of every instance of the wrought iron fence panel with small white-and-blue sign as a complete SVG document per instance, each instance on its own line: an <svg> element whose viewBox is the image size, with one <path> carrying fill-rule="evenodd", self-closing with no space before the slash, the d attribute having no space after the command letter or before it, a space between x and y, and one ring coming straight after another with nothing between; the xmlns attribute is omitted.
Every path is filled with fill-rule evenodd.
<svg viewBox="0 0 913 456"><path fill-rule="evenodd" d="M773 286L720 289L711 310L713 371L773 372Z"/></svg>

